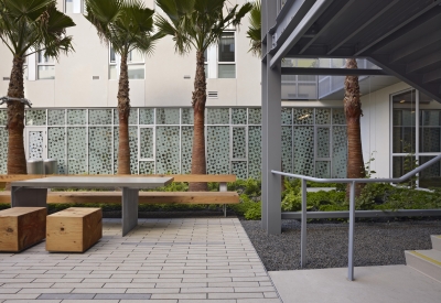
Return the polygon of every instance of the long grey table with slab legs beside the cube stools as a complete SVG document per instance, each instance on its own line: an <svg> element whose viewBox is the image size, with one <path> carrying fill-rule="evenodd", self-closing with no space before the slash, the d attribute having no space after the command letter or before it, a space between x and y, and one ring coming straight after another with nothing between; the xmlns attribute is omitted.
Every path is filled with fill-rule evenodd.
<svg viewBox="0 0 441 303"><path fill-rule="evenodd" d="M11 183L12 207L46 207L47 188L122 188L122 236L138 225L139 190L170 184L173 177L146 176L51 176Z"/></svg>

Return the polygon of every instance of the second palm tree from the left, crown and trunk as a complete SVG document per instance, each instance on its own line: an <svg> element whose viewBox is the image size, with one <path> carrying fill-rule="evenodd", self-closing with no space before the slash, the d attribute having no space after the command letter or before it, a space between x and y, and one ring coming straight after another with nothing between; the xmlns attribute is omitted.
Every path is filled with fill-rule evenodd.
<svg viewBox="0 0 441 303"><path fill-rule="evenodd" d="M119 147L118 174L130 174L129 147L129 74L127 59L133 51L150 55L154 42L162 37L153 34L153 10L144 7L141 0L86 0L85 18L96 28L98 36L110 44L121 56L118 113Z"/></svg>

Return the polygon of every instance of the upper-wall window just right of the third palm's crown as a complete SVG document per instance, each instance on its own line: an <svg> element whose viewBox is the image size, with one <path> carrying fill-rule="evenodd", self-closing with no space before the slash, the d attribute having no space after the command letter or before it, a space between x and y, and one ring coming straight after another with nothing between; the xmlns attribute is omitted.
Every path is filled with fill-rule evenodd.
<svg viewBox="0 0 441 303"><path fill-rule="evenodd" d="M218 44L218 78L236 78L236 52L235 33L225 32L222 34Z"/></svg>

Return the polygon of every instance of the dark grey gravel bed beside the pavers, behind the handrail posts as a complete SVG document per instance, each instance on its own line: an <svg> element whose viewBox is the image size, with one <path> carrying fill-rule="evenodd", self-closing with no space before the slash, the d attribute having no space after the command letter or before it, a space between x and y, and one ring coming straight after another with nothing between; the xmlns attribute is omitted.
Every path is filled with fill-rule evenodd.
<svg viewBox="0 0 441 303"><path fill-rule="evenodd" d="M282 234L267 236L257 220L240 220L268 271L300 269L300 221L282 220ZM431 249L441 220L356 223L354 264L406 264L405 250ZM308 224L305 269L347 267L348 224Z"/></svg>

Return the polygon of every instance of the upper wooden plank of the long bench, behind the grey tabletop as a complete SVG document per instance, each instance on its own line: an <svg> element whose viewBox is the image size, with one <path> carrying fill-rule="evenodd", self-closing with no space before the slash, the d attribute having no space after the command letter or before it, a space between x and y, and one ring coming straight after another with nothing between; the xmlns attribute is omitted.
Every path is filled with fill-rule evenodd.
<svg viewBox="0 0 441 303"><path fill-rule="evenodd" d="M49 177L49 176L56 176L56 175L0 175L0 184L1 183L10 183L14 181L24 181L24 180L31 180L31 178L42 178L42 177ZM84 175L60 175L60 176L84 176ZM133 176L133 175L87 175L87 176L99 176L99 177L106 177L106 176ZM174 178L174 182L235 182L236 181L236 175L203 175L203 174L187 174L187 175L164 175L164 174L158 174L158 175L136 175L136 176L171 176Z"/></svg>

